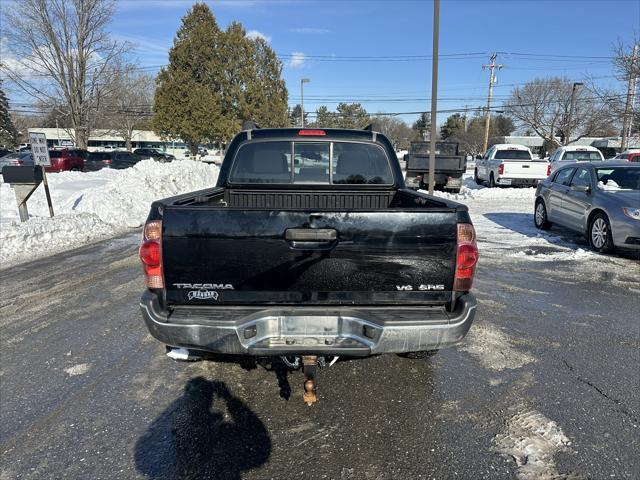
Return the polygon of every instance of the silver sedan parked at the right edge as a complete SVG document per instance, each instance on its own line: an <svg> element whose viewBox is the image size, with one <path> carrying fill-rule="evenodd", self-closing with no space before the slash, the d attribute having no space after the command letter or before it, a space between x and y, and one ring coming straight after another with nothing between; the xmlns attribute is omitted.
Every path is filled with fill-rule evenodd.
<svg viewBox="0 0 640 480"><path fill-rule="evenodd" d="M574 163L559 168L536 190L534 221L586 236L598 252L614 248L640 253L640 165Z"/></svg>

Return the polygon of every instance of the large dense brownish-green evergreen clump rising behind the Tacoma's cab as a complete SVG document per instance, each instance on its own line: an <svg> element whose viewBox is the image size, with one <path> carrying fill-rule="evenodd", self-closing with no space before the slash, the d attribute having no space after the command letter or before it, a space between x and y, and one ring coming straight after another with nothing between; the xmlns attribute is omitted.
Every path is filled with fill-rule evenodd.
<svg viewBox="0 0 640 480"><path fill-rule="evenodd" d="M275 52L264 39L248 38L238 22L220 30L202 3L183 18L157 84L156 131L182 138L192 151L228 142L244 120L287 125L288 94Z"/></svg>

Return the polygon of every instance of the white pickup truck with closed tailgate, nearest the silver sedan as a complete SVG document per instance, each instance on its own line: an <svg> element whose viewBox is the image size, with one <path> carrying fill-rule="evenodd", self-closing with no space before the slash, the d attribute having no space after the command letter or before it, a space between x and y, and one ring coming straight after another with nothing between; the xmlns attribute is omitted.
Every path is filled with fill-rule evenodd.
<svg viewBox="0 0 640 480"><path fill-rule="evenodd" d="M549 162L534 159L523 145L502 143L492 146L476 161L473 178L477 184L497 186L534 186L551 173Z"/></svg>

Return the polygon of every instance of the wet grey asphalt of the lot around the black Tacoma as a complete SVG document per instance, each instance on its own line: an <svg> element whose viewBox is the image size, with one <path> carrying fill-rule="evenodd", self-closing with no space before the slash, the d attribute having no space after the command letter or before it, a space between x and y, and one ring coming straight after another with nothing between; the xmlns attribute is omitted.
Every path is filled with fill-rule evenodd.
<svg viewBox="0 0 640 480"><path fill-rule="evenodd" d="M302 374L179 363L139 233L0 272L0 478L640 478L640 265L489 252L459 346ZM618 261L618 259L616 259Z"/></svg>

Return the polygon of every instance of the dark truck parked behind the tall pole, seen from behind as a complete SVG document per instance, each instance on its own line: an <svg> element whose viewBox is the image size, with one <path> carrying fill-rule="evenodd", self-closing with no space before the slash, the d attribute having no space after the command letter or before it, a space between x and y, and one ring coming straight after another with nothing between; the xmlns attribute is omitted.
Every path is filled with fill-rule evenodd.
<svg viewBox="0 0 640 480"><path fill-rule="evenodd" d="M429 188L430 142L411 142L409 152L404 156L407 185L412 188ZM458 144L436 142L435 188L452 193L460 192L462 175L467 169L464 155L458 152Z"/></svg>

